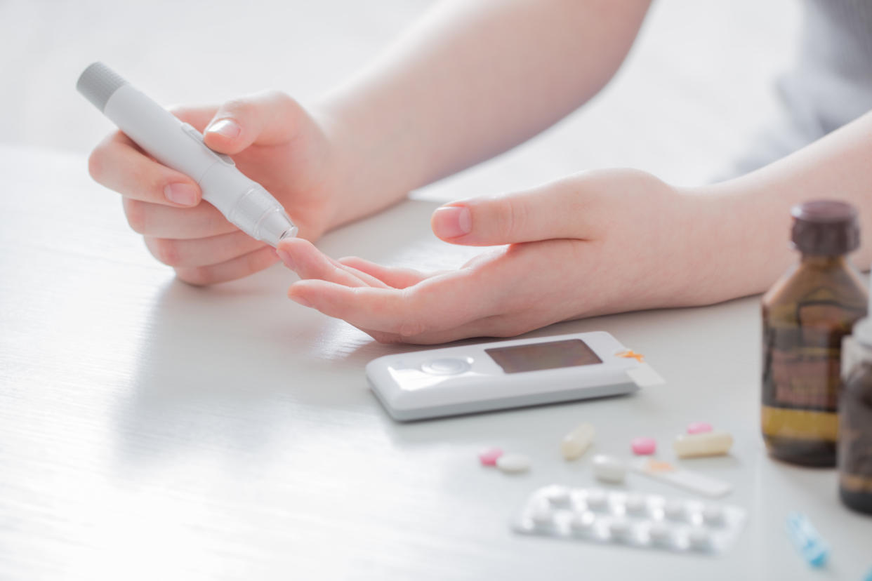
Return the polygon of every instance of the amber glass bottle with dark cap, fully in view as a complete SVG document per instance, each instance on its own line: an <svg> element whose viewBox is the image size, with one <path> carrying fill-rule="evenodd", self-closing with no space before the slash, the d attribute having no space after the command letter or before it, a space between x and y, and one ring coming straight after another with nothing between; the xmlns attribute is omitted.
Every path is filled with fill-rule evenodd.
<svg viewBox="0 0 872 581"><path fill-rule="evenodd" d="M800 262L763 296L761 428L771 456L835 466L841 340L866 315L866 287L847 257L860 226L855 208L835 200L791 213Z"/></svg>

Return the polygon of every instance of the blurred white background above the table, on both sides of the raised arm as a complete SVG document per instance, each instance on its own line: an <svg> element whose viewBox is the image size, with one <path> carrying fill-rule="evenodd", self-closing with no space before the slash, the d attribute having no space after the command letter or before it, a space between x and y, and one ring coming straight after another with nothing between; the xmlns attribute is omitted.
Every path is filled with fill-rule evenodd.
<svg viewBox="0 0 872 581"><path fill-rule="evenodd" d="M469 0L473 1L473 0ZM433 0L0 1L0 142L85 154L112 126L74 90L103 60L165 104L264 88L303 102L385 50ZM676 183L729 166L773 116L790 0L655 3L628 61L562 124L423 195L493 193L602 166Z"/></svg>

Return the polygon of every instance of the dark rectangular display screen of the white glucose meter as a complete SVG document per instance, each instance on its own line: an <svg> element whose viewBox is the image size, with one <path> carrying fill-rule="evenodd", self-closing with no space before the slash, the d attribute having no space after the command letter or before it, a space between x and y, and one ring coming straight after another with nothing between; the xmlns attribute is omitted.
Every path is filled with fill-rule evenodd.
<svg viewBox="0 0 872 581"><path fill-rule="evenodd" d="M595 365L603 360L581 339L485 349L506 373Z"/></svg>

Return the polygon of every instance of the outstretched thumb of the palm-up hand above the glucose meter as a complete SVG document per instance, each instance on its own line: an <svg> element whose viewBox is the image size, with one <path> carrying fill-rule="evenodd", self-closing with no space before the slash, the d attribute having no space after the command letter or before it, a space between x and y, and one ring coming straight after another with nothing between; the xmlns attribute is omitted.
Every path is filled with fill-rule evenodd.
<svg viewBox="0 0 872 581"><path fill-rule="evenodd" d="M493 246L582 238L586 204L569 180L517 193L451 202L433 212L433 233L453 244Z"/></svg>

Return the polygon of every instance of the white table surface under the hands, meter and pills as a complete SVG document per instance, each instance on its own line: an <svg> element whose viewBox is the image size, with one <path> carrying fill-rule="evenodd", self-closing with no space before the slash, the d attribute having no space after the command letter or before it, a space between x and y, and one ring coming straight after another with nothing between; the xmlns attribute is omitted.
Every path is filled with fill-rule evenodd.
<svg viewBox="0 0 872 581"><path fill-rule="evenodd" d="M364 364L399 351L285 298L274 267L194 288L151 258L79 155L0 146L0 578L859 579L872 519L841 507L834 470L766 456L758 429L759 298L574 321L644 353L661 388L596 402L393 422ZM409 201L330 233L330 255L419 267L468 252ZM721 557L521 537L508 519L536 487L589 485L591 452L558 453L579 422L596 452L688 422L735 436L682 462L735 485L750 511ZM480 467L487 445L533 470ZM628 488L682 496L642 476ZM833 546L811 571L785 534L805 511Z"/></svg>

